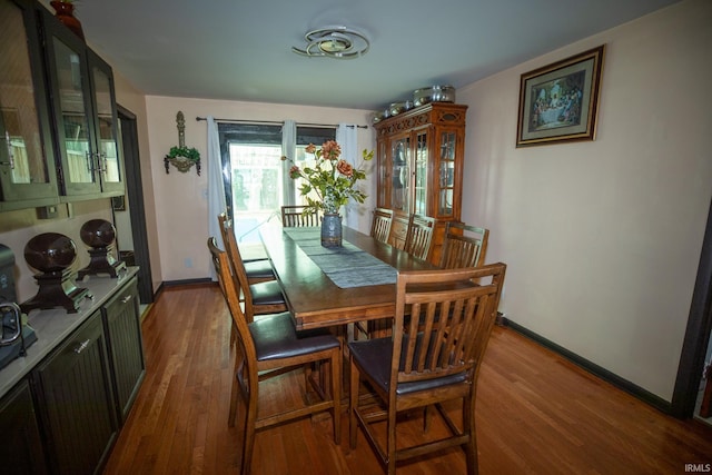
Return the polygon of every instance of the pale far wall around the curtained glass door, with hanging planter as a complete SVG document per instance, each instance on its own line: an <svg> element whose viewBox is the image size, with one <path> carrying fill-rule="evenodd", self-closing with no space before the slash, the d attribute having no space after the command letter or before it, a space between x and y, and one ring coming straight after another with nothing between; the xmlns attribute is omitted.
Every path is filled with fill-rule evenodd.
<svg viewBox="0 0 712 475"><path fill-rule="evenodd" d="M217 119L269 120L294 119L298 123L338 122L369 125L368 110L335 109L256 102L219 101L204 99L181 99L148 96L148 131L150 136L150 159L152 162L154 191L156 195L156 222L160 241L162 280L182 280L209 276L207 216L207 122L196 121L196 117L212 116ZM178 145L176 113L182 111L186 118L186 146L200 151L202 170L196 175L195 167L182 174L170 167L167 175L164 156L170 147ZM370 127L359 129L358 149L374 147ZM357 158L357 157L356 157ZM369 176L374 176L373 172ZM363 209L373 209L375 194L367 191L368 201ZM352 216L353 218L353 216ZM353 222L349 222L353 225ZM370 214L358 217L357 227L367 230ZM187 261L191 264L188 267Z"/></svg>

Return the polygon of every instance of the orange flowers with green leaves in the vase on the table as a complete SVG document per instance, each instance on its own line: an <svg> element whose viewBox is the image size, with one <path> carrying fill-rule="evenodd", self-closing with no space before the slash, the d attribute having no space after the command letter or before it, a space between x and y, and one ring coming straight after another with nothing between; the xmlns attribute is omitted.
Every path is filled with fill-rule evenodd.
<svg viewBox="0 0 712 475"><path fill-rule="evenodd" d="M366 178L366 171L363 168L355 168L340 158L342 147L336 140L327 140L320 149L309 144L306 151L315 155L314 166L301 169L293 165L289 169L291 179L304 179L299 194L306 197L305 212L315 212L320 209L325 215L337 215L339 208L346 205L349 198L364 202L366 195L356 189L355 185L356 181ZM363 161L372 160L374 151L364 149L362 158ZM287 157L281 159L287 160ZM317 198L309 196L312 191Z"/></svg>

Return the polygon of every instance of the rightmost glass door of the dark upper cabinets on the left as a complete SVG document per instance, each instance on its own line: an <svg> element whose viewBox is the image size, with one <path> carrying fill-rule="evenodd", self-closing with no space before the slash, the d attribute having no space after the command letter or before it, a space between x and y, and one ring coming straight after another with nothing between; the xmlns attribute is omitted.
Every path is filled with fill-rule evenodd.
<svg viewBox="0 0 712 475"><path fill-rule="evenodd" d="M89 65L93 86L96 111L95 130L99 151L98 170L101 174L101 189L123 190L123 170L117 148L117 113L113 97L113 76L109 66L93 52L89 52Z"/></svg>

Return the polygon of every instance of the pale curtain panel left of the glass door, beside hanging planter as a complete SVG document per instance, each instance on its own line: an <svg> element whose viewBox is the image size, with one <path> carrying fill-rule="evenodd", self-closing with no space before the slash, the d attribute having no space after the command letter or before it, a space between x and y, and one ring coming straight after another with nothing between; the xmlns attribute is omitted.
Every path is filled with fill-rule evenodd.
<svg viewBox="0 0 712 475"><path fill-rule="evenodd" d="M215 236L220 249L225 249L218 225L218 215L227 209L225 182L222 181L222 160L220 159L220 139L212 116L208 116L208 235ZM214 266L210 277L217 280Z"/></svg>

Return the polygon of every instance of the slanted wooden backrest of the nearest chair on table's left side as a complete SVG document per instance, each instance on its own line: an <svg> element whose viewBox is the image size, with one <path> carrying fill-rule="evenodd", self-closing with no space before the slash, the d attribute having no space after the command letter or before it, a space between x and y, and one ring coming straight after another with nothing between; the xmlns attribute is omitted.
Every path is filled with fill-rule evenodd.
<svg viewBox="0 0 712 475"><path fill-rule="evenodd" d="M248 320L240 308L239 287L235 285L229 257L224 250L218 248L215 237L208 238L208 249L210 250L215 273L218 276L220 290L222 291L228 310L230 311L230 317L233 318L233 328L235 329L237 342L240 346L239 349L241 350L238 355L245 358L241 370L247 370L249 375L249 380L247 379L247 375L244 375L241 383L249 385L249 387L256 387L258 383L257 352L255 350L255 344L249 333Z"/></svg>

